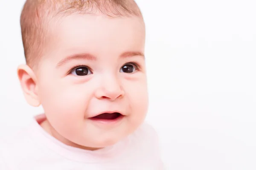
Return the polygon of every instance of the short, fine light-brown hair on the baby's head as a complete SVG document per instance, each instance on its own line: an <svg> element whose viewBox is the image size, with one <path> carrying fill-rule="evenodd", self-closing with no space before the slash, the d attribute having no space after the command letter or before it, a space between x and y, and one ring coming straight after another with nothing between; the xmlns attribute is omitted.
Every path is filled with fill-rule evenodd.
<svg viewBox="0 0 256 170"><path fill-rule="evenodd" d="M34 67L35 61L42 57L49 33L47 25L53 19L97 12L109 17L142 17L134 0L26 0L20 27L27 65Z"/></svg>

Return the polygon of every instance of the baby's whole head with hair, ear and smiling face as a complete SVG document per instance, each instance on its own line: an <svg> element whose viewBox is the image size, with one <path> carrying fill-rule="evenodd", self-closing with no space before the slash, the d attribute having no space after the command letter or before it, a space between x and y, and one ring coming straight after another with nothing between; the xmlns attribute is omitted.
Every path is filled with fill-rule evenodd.
<svg viewBox="0 0 256 170"><path fill-rule="evenodd" d="M21 31L27 65L18 77L52 136L93 150L142 124L145 25L133 0L27 0Z"/></svg>

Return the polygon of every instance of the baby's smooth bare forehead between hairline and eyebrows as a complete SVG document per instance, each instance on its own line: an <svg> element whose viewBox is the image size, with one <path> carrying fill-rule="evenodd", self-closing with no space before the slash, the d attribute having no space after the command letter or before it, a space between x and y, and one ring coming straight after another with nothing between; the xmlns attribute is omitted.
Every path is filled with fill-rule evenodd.
<svg viewBox="0 0 256 170"><path fill-rule="evenodd" d="M50 51L72 55L118 55L144 51L145 26L140 17L112 18L105 15L72 14L52 24ZM59 55L63 56L63 55Z"/></svg>

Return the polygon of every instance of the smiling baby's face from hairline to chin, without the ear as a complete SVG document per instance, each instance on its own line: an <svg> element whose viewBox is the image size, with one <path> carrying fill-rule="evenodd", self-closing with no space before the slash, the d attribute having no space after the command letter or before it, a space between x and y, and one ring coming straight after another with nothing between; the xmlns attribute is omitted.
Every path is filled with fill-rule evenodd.
<svg viewBox="0 0 256 170"><path fill-rule="evenodd" d="M70 15L50 29L37 85L58 135L98 148L134 132L148 109L142 19Z"/></svg>

